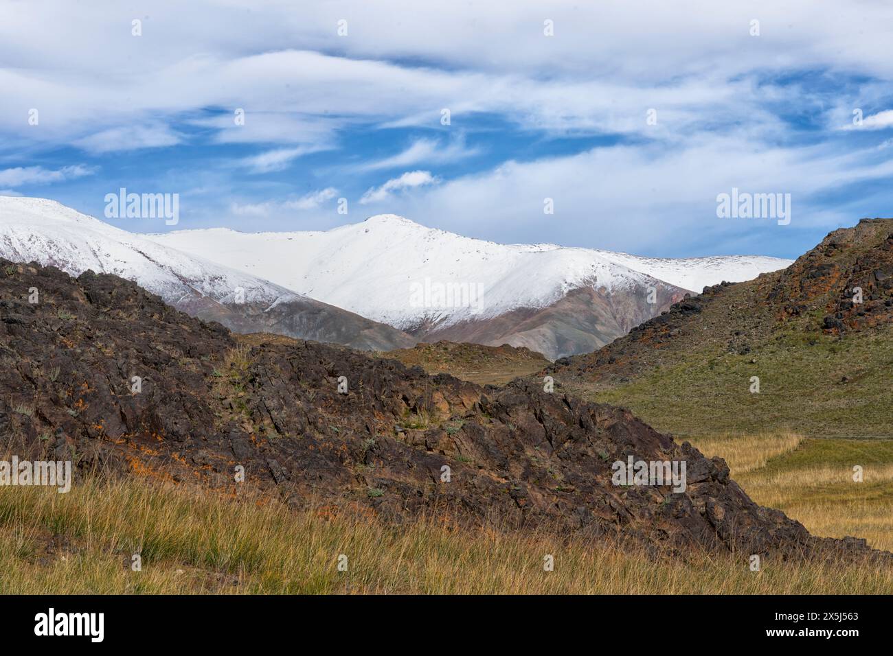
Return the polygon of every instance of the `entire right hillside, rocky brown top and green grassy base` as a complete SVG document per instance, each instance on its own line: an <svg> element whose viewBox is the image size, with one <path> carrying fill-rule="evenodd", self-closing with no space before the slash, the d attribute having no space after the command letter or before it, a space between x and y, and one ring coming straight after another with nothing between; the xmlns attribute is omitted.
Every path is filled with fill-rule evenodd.
<svg viewBox="0 0 893 656"><path fill-rule="evenodd" d="M879 219L835 230L788 269L710 287L552 372L681 434L893 437L890 370L893 220Z"/></svg>

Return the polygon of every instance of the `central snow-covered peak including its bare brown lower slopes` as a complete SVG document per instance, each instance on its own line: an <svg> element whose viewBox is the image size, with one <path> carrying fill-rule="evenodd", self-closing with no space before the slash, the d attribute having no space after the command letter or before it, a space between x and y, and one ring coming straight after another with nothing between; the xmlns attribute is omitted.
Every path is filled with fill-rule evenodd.
<svg viewBox="0 0 893 656"><path fill-rule="evenodd" d="M550 358L604 345L687 291L789 263L741 256L661 260L548 244L503 245L394 215L325 232L211 228L146 238L227 262L425 341L506 343Z"/></svg>

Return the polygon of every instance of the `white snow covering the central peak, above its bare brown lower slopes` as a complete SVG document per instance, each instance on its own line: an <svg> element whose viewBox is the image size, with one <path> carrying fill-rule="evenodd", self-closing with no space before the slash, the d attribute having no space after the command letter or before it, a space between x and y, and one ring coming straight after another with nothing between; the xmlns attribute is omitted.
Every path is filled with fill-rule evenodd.
<svg viewBox="0 0 893 656"><path fill-rule="evenodd" d="M403 330L545 308L580 288L611 294L661 280L700 292L722 280L755 278L790 264L770 257L667 260L549 244L496 244L392 214L325 232L210 228L146 238ZM436 290L449 285L480 296L470 303L441 303Z"/></svg>

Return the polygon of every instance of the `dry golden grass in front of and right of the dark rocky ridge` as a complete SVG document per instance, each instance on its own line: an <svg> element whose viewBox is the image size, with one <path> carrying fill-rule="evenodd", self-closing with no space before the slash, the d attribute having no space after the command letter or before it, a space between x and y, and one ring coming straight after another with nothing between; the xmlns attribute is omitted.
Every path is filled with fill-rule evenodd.
<svg viewBox="0 0 893 656"><path fill-rule="evenodd" d="M822 536L867 537L893 548L893 445L830 444L797 436L716 436L758 502L788 511ZM864 462L865 482L847 478ZM130 569L139 553L142 569ZM346 556L346 571L338 558ZM544 571L546 555L555 560ZM433 520L390 527L329 508L230 499L151 485L138 477L88 478L68 494L0 487L0 594L441 593L441 594L883 594L893 569L774 563L745 554L655 560L546 533L469 534Z"/></svg>

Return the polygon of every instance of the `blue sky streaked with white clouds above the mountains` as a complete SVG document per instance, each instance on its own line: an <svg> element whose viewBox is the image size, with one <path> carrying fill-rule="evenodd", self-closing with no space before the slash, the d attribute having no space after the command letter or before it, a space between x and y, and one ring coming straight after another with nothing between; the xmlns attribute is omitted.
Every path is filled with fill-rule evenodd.
<svg viewBox="0 0 893 656"><path fill-rule="evenodd" d="M669 5L5 2L0 194L657 256L796 257L893 215L893 6ZM717 218L732 187L790 194L790 224Z"/></svg>

